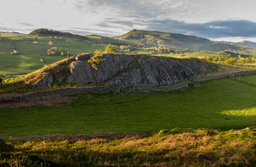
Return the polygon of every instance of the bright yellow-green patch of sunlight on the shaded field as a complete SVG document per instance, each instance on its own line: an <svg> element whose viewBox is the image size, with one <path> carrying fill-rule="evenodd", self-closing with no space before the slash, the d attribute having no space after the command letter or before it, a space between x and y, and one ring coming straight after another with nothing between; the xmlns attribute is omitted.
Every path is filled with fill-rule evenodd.
<svg viewBox="0 0 256 167"><path fill-rule="evenodd" d="M228 116L254 117L256 116L256 107L243 110L224 110L221 114Z"/></svg>

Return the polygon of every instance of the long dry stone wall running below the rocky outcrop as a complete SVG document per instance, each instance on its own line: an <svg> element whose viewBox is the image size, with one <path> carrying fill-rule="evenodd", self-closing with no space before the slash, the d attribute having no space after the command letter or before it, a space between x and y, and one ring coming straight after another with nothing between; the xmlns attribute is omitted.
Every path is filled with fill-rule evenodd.
<svg viewBox="0 0 256 167"><path fill-rule="evenodd" d="M188 89L189 87L196 85L196 83L205 82L207 80L234 77L237 75L248 75L256 73L256 70L252 71L237 71L232 73L221 73L207 76L198 76L192 81L186 81L182 83L176 83L173 85L154 86L154 85L132 85L132 86L118 86L118 87L67 87L60 89L52 89L47 91L29 92L26 94L7 94L0 96L0 103L10 101L33 101L38 99L54 98L58 96L65 96L71 94L87 94L87 93L109 93L109 92L173 92Z"/></svg>

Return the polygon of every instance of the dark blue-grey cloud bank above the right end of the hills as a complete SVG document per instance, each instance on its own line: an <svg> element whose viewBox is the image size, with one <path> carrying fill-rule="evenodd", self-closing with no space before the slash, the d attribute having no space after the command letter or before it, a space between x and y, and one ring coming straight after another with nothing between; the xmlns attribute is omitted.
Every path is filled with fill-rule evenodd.
<svg viewBox="0 0 256 167"><path fill-rule="evenodd" d="M152 20L148 22L149 30L181 33L205 38L254 37L256 22L248 20L216 20L206 23L186 23L178 20Z"/></svg>

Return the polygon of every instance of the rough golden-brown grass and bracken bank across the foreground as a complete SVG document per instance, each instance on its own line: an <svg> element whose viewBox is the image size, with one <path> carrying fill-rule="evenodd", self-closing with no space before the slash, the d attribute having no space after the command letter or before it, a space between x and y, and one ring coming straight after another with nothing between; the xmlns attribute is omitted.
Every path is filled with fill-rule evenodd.
<svg viewBox="0 0 256 167"><path fill-rule="evenodd" d="M256 165L255 127L223 132L173 129L147 137L95 136L7 142L0 148L0 166Z"/></svg>

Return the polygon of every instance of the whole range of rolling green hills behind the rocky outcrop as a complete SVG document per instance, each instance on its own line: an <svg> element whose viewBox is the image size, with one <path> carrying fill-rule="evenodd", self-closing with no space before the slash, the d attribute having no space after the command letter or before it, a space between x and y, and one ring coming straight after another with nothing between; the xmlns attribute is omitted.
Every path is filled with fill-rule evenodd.
<svg viewBox="0 0 256 167"><path fill-rule="evenodd" d="M195 53L195 51L200 52L202 50L216 52L214 54L216 57L220 56L217 52L223 50L241 50L243 55L256 53L255 49L253 49L255 43L250 41L241 43L216 42L184 34L135 29L127 34L113 38L96 34L81 36L49 29L36 29L29 34L17 32L0 32L0 34L0 76L4 78L24 75L53 62L65 59L65 54L68 51L71 55L95 52L95 50L104 51L108 44L117 45L117 52L123 54L168 54L170 56L170 53L172 53L171 56L179 57L179 54L184 54L185 52L179 52L179 50L184 48L189 48L186 51L189 54L195 54L195 56L191 55L192 57L202 56L202 54L207 53ZM126 48L119 48L121 45L125 45L124 47ZM160 52L157 50L159 46L168 48L164 52ZM47 55L47 50L51 47L61 48L63 55ZM17 50L19 54L11 54L13 50ZM223 56L225 57L226 55ZM249 55L249 57L252 56Z"/></svg>

